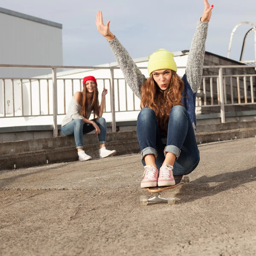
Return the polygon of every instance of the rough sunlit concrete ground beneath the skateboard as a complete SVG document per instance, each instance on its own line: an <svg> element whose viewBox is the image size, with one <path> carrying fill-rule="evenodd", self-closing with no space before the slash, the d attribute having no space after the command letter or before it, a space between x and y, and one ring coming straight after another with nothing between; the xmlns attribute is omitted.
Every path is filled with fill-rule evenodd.
<svg viewBox="0 0 256 256"><path fill-rule="evenodd" d="M140 155L0 172L0 255L256 255L256 138L202 144L176 204L140 206Z"/></svg>

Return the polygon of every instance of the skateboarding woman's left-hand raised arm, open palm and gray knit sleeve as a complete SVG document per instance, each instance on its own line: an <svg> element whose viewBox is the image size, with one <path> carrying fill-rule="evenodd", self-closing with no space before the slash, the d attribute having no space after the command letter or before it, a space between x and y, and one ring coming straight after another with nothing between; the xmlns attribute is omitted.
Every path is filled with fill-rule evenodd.
<svg viewBox="0 0 256 256"><path fill-rule="evenodd" d="M134 92L134 94L140 99L140 88L145 82L146 78L141 73L140 69L137 67L125 47L117 40L117 38L109 30L110 20L104 25L102 12L99 11L96 15L96 25L98 31L108 40L116 61L122 70L125 77L125 81Z"/></svg>

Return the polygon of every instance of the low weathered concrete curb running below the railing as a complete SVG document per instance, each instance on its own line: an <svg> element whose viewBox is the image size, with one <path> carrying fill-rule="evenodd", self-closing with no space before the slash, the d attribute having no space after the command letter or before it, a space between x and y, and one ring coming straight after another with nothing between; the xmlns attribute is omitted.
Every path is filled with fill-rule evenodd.
<svg viewBox="0 0 256 256"><path fill-rule="evenodd" d="M198 144L203 144L249 137L256 137L256 128L201 132L196 134L196 141ZM136 131L108 133L107 141L108 149L115 149L116 155L140 152ZM88 143L91 144L88 145ZM59 145L62 146L59 147ZM86 153L91 155L93 159L97 159L99 158L98 149L99 144L96 135L87 134L84 145ZM0 154L0 170L78 160L73 136L0 143L0 153L2 153Z"/></svg>

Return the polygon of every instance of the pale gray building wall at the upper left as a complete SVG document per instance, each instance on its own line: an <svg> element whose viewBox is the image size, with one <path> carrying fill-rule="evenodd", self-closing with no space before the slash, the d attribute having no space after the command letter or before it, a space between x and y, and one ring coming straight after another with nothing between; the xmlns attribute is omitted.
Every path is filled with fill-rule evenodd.
<svg viewBox="0 0 256 256"><path fill-rule="evenodd" d="M62 65L62 29L0 13L0 63ZM44 69L0 68L0 77L33 77Z"/></svg>

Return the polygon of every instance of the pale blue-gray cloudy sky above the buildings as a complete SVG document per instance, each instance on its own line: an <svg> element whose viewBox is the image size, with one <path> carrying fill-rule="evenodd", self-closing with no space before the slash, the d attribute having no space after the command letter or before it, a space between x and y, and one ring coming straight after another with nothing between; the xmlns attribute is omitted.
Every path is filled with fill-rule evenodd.
<svg viewBox="0 0 256 256"><path fill-rule="evenodd" d="M255 0L212 0L206 50L224 57L233 28L242 21L256 24ZM96 13L132 58L150 55L159 48L171 52L190 47L204 0L0 0L0 7L61 23L63 64L93 66L115 61L106 39L96 29ZM230 58L239 60L244 35L251 28L236 30ZM243 60L254 59L254 33L247 37Z"/></svg>

